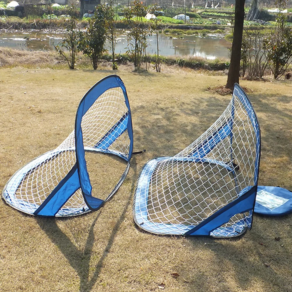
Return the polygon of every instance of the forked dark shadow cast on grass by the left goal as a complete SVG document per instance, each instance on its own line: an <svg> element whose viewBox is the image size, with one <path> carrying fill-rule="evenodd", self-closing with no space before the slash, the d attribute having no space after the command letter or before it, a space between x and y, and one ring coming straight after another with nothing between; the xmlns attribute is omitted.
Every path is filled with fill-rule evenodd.
<svg viewBox="0 0 292 292"><path fill-rule="evenodd" d="M98 215L96 216L93 223L91 224L90 230L88 232L85 248L83 251L79 251L76 245L64 234L64 232L62 232L60 227L58 227L57 221L64 220L64 219L36 217L36 221L41 227L41 229L47 234L47 236L51 239L51 241L56 246L58 246L60 251L68 260L69 264L77 272L80 279L80 291L82 292L90 292L94 284L98 280L101 268L103 266L103 261L107 257L114 243L114 239L119 230L119 227L125 219L128 207L132 203L132 194L133 194L133 190L134 190L135 182L137 178L137 168L136 168L135 157L132 159L131 165L132 165L131 168L133 169L133 173L134 173L133 178L132 178L132 184L131 184L131 192L129 194L128 200L126 201L126 205L123 211L121 212L119 220L117 220L116 224L114 225L112 229L112 232L109 236L107 245L104 248L102 256L98 260L98 263L95 265L95 270L93 272L93 276L91 277L91 279L88 279L88 277L89 277L92 248L95 241L94 227L98 218L102 214L102 209L98 211L99 212Z"/></svg>

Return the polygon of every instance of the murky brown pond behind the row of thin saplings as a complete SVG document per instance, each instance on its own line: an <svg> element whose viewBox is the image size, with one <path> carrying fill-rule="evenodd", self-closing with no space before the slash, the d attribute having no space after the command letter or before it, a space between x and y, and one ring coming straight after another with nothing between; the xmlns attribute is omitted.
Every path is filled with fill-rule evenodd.
<svg viewBox="0 0 292 292"><path fill-rule="evenodd" d="M0 34L0 47L10 47L13 49L25 51L53 50L63 34L31 31L31 32L10 32ZM156 36L148 38L148 54L155 54L157 48ZM127 51L128 36L125 31L119 31L117 35L116 53L125 53ZM206 37L183 36L160 33L158 36L159 53L164 56L199 56L207 59L229 58L228 43L218 34L208 35ZM107 44L107 48L109 45Z"/></svg>

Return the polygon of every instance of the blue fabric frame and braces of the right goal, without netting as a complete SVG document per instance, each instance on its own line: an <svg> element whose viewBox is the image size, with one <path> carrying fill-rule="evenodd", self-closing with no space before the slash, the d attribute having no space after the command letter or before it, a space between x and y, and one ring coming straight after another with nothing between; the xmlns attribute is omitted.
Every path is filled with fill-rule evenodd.
<svg viewBox="0 0 292 292"><path fill-rule="evenodd" d="M240 92L240 94L238 94ZM258 173L259 173L259 163L260 163L260 126L256 113L253 110L250 100L244 93L242 88L238 85L234 85L234 94L239 98L239 100L244 104L246 112L251 120L252 126L256 133L256 161L255 161L255 171L254 171L254 185L247 187L238 193L238 198L227 204L213 215L208 217L202 223L197 226L186 226L181 224L164 224L164 223L152 223L147 218L147 197L149 192L149 184L151 180L152 173L158 163L167 159L174 159L180 161L193 161L193 162L208 162L219 164L225 167L228 171L231 171L235 176L234 168L229 164L224 164L222 161L216 161L211 159L205 159L204 156L209 153L216 144L230 136L232 142L232 128L234 119L234 98L232 97L232 109L231 118L226 121L226 123L215 130L212 136L206 139L200 146L197 147L195 151L188 154L187 157L159 157L152 159L143 167L140 177L138 179L138 184L135 192L135 203L133 208L134 220L135 222L144 230L157 233L157 234L182 234L182 230L185 230L184 235L195 235L195 236L212 236L212 231L221 229L235 230L232 236L237 236L240 232L236 231L240 228L239 226L247 226L251 229L252 226L252 213L255 206L257 184L258 184ZM230 149L230 157L232 161L232 149ZM236 182L235 182L236 183ZM136 202L139 202L137 204ZM237 213L250 212L250 218L241 220L242 222L235 223L232 227L220 227L221 225L227 223L230 218ZM144 224L147 222L147 224ZM244 223L245 222L245 223ZM144 225L144 226L143 226ZM146 225L146 226L145 226ZM244 228L246 230L246 227ZM242 231L242 228L241 228ZM230 234L230 233L229 233Z"/></svg>

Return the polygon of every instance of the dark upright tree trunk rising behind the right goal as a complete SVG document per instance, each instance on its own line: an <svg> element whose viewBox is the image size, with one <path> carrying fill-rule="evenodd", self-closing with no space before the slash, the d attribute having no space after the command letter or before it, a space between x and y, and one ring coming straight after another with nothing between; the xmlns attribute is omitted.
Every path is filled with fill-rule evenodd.
<svg viewBox="0 0 292 292"><path fill-rule="evenodd" d="M225 85L226 88L230 88L232 90L234 87L234 83L239 83L240 55L244 20L244 2L245 0L235 0L232 51L227 83Z"/></svg>

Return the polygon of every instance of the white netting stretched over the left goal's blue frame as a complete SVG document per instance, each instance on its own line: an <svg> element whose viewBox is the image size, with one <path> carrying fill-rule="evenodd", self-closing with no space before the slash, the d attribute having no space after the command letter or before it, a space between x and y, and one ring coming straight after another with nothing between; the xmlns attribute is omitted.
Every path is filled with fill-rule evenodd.
<svg viewBox="0 0 292 292"><path fill-rule="evenodd" d="M98 151L98 143L102 144L107 133L115 126L119 127L119 121L128 114L125 97L121 88L112 88L105 91L88 109L82 118L81 128L83 133L84 149ZM97 148L96 148L97 147ZM107 152L128 157L130 139L127 130L112 142ZM95 170L98 164L102 164L103 170L107 169L107 177L112 182L112 189L118 182L125 169L125 163L116 166L120 169L117 175L111 176L111 166L107 163L112 158L108 154L94 153L98 159L94 159ZM117 159L116 159L117 160ZM91 164L91 161L86 161ZM14 208L26 213L34 213L36 209L51 194L60 181L67 175L76 163L74 131L55 150L47 152L29 164L21 168L13 175L3 191L3 197ZM117 171L115 171L117 172ZM94 183L94 182L93 182ZM101 188L103 186L101 185ZM108 193L100 199L105 199ZM97 196L94 193L93 196ZM56 216L77 215L90 211L84 202L81 190L77 190L65 203Z"/></svg>

